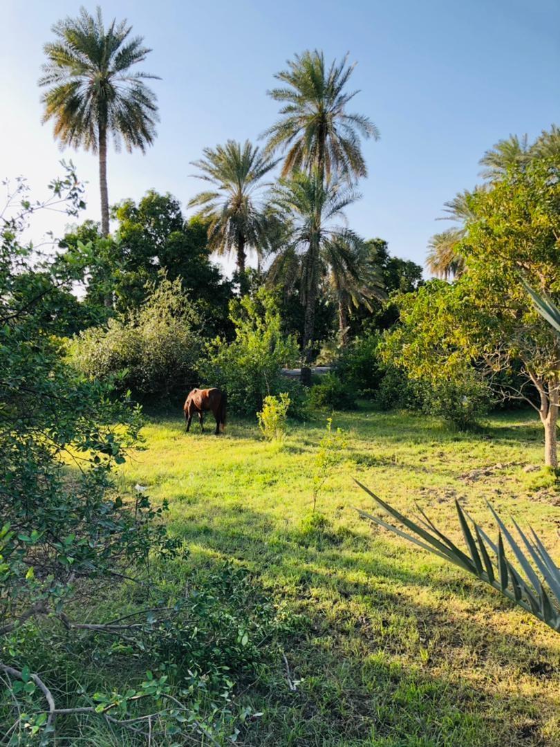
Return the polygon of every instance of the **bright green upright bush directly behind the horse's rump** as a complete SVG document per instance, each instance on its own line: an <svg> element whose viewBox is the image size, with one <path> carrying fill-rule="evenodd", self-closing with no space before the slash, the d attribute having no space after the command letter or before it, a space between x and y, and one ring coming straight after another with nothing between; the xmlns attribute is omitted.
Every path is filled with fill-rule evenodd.
<svg viewBox="0 0 560 747"><path fill-rule="evenodd" d="M232 302L230 318L235 338L208 344L202 378L225 389L237 412L255 415L265 397L285 388L281 368L294 365L299 351L295 339L282 333L276 300L264 288Z"/></svg>

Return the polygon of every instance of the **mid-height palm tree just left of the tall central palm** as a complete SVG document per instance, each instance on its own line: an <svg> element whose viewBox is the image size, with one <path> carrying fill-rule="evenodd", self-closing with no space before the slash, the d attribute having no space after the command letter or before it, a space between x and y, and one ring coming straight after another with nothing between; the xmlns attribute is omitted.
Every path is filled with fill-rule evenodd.
<svg viewBox="0 0 560 747"><path fill-rule="evenodd" d="M202 205L199 215L209 221L211 249L219 254L235 252L241 291L246 288L247 249L261 254L267 247L268 219L264 205L258 202L258 191L277 162L249 140L243 146L228 140L225 146L205 148L204 158L193 161L202 172L197 178L215 188L194 196L189 207Z"/></svg>

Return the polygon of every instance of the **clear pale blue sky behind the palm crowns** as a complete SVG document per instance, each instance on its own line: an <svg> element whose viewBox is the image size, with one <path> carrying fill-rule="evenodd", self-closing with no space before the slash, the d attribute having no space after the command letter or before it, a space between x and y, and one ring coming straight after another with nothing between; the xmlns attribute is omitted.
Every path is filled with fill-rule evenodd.
<svg viewBox="0 0 560 747"><path fill-rule="evenodd" d="M80 2L1 0L0 180L25 176L46 194L72 158L87 182L87 211L99 220L98 165L83 151L61 152L41 124L37 79L43 44ZM93 11L94 5L85 4ZM364 238L423 264L444 202L479 182L479 158L508 134L535 137L560 124L560 0L102 0L105 21L127 18L152 48L161 123L146 155L108 158L111 204L170 192L187 212L201 189L190 165L228 138L258 142L279 105L267 96L274 73L305 49L328 61L349 53L366 114L381 139L365 140L363 199L347 210ZM66 217L48 214L34 230L60 235ZM225 264L231 269L231 263Z"/></svg>

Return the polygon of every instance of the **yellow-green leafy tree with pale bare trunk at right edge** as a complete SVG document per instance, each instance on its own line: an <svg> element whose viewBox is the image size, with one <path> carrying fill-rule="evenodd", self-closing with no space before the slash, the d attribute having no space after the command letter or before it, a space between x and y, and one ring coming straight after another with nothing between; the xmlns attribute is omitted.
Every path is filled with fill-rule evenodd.
<svg viewBox="0 0 560 747"><path fill-rule="evenodd" d="M445 379L476 365L492 385L494 374L519 365L525 383L500 385L500 391L537 410L544 462L553 468L560 346L533 308L523 279L558 300L559 176L559 158L535 158L473 193L473 217L461 242L467 271L453 285L433 281L416 297L403 297L402 323L387 343L393 362L418 378Z"/></svg>

